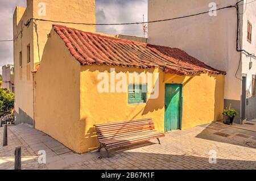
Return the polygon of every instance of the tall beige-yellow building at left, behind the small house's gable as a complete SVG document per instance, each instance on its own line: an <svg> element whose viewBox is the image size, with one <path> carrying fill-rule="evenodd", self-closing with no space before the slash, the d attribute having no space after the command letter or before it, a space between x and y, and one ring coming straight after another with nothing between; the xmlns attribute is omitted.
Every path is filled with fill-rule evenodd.
<svg viewBox="0 0 256 181"><path fill-rule="evenodd" d="M40 63L48 33L53 23L32 20L31 18L46 19L57 22L95 23L94 0L56 0L39 1L27 0L27 8L16 7L14 12L14 66L15 66L15 119L16 123L34 125L34 91L33 74L35 64ZM69 27L79 28L84 31L96 31L95 26L68 24ZM21 31L22 30L22 31ZM17 38L16 38L17 37ZM31 61L27 62L27 46L30 45ZM22 67L19 66L19 53L22 52Z"/></svg>

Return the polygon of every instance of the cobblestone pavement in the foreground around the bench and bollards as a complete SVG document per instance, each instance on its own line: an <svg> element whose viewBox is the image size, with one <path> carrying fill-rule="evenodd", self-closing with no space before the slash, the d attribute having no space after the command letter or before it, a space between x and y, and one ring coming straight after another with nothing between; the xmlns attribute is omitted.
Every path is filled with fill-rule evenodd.
<svg viewBox="0 0 256 181"><path fill-rule="evenodd" d="M256 122L255 122L256 124ZM3 128L0 128L2 141ZM142 144L110 150L110 158L96 152L76 154L46 134L26 125L9 127L9 146L0 145L0 169L13 169L14 149L22 146L23 169L256 169L256 132L213 123ZM45 150L46 164L36 154ZM217 163L209 163L209 152ZM105 155L105 153L102 153Z"/></svg>

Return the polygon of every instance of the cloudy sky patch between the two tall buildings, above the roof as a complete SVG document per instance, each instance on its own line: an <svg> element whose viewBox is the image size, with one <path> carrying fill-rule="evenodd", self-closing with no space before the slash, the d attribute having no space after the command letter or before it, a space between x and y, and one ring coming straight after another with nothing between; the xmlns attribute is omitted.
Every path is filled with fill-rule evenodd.
<svg viewBox="0 0 256 181"><path fill-rule="evenodd" d="M147 21L147 0L97 0L97 23L132 23ZM97 32L143 37L142 24L97 26Z"/></svg>

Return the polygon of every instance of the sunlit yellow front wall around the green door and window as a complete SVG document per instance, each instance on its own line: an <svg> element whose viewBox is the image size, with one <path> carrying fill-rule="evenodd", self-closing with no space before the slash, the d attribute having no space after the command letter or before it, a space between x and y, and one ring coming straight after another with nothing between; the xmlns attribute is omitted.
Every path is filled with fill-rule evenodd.
<svg viewBox="0 0 256 181"><path fill-rule="evenodd" d="M127 93L100 93L97 85L98 73L110 74L110 66L82 66L80 75L80 153L98 146L93 124L109 123L151 117L156 129L164 131L164 87L165 83L183 84L182 128L211 123L222 119L224 108L224 75L201 74L196 76L176 76L160 69L136 69L115 67L117 73L159 72L159 97L148 99L145 104L129 105ZM141 82L145 83L145 82ZM154 85L152 85L154 86ZM150 92L147 92L147 98Z"/></svg>

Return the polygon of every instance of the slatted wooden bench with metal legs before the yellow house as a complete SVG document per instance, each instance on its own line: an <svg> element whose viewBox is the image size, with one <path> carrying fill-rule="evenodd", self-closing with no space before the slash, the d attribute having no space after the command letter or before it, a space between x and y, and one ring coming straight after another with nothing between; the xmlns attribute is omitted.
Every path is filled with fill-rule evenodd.
<svg viewBox="0 0 256 181"><path fill-rule="evenodd" d="M98 152L101 158L101 149L105 148L109 157L110 148L135 144L156 138L160 144L160 137L164 137L163 132L155 130L152 119L139 119L122 121L116 123L95 124L100 142Z"/></svg>

